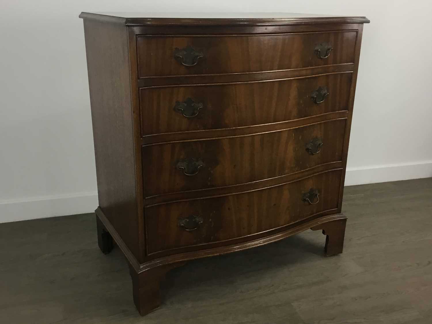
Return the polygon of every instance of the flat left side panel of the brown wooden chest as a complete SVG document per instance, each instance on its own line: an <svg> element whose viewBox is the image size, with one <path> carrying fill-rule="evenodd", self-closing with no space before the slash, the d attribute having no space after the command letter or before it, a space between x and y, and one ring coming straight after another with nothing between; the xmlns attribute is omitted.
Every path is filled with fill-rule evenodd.
<svg viewBox="0 0 432 324"><path fill-rule="evenodd" d="M84 32L99 206L142 260L126 27L85 20Z"/></svg>

